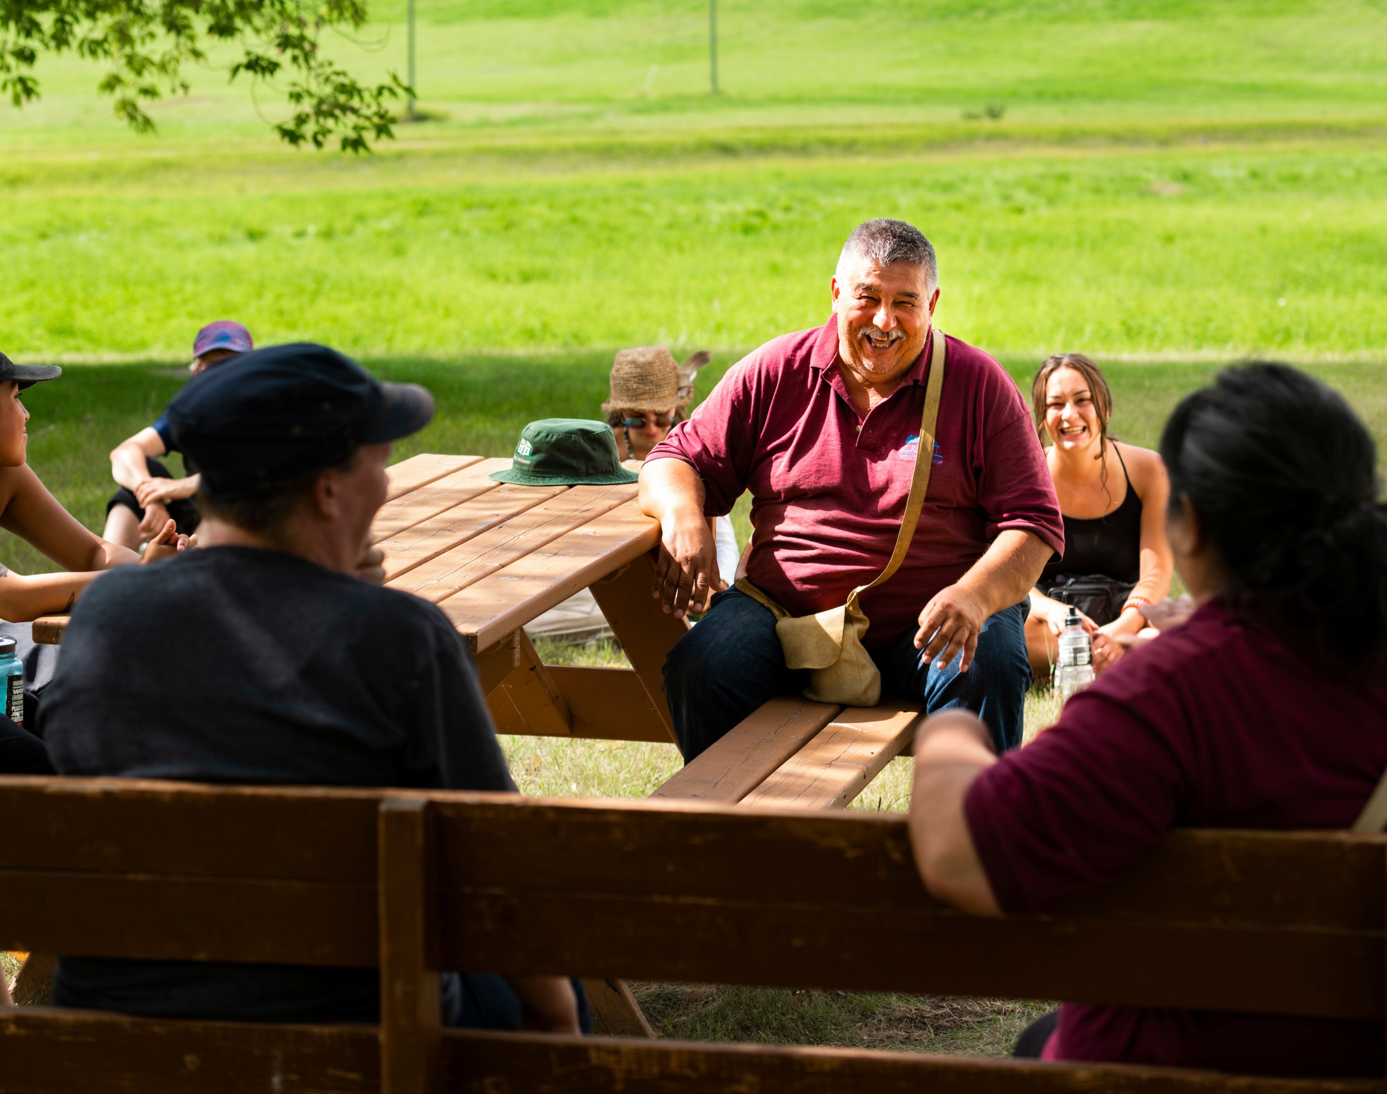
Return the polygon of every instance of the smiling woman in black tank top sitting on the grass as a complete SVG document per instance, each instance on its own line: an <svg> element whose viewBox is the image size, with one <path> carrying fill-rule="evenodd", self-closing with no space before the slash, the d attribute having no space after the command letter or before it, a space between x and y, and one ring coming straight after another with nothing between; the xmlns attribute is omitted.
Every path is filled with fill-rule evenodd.
<svg viewBox="0 0 1387 1094"><path fill-rule="evenodd" d="M1064 616L1075 605L1101 672L1122 656L1118 639L1146 628L1142 606L1171 591L1169 480L1155 452L1108 437L1112 395L1082 354L1047 358L1032 401L1064 514L1064 555L1051 556L1031 591L1031 668L1037 678L1050 675Z"/></svg>

